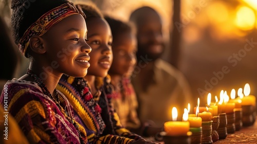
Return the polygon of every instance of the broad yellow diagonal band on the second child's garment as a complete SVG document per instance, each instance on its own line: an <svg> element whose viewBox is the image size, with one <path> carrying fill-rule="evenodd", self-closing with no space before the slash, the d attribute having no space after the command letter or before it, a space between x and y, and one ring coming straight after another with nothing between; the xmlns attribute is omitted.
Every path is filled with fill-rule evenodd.
<svg viewBox="0 0 257 144"><path fill-rule="evenodd" d="M63 87L61 85L57 85L56 87L60 92L62 92L70 104L73 106L74 110L78 113L80 118L83 120L83 122L86 124L86 127L90 130L93 130L97 132L97 129L94 126L93 119L88 115L88 113L85 111L81 103L78 101L78 99L75 98L74 95L72 95L66 87Z"/></svg>

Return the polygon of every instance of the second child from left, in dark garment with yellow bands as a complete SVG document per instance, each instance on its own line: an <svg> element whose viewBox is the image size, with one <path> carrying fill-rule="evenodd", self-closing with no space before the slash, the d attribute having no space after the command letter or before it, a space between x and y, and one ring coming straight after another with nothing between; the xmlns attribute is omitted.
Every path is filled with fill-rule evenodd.
<svg viewBox="0 0 257 144"><path fill-rule="evenodd" d="M103 91L103 78L111 67L112 32L108 23L96 7L81 5L87 15L90 67L84 78L64 75L58 89L64 92L76 111L76 116L85 127L91 143L140 143L140 136L124 129L114 112L112 103ZM137 140L137 141L136 141Z"/></svg>

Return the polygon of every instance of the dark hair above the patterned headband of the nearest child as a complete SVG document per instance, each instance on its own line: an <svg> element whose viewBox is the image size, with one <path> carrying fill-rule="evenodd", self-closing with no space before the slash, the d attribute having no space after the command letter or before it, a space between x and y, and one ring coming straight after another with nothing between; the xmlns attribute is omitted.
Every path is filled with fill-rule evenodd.
<svg viewBox="0 0 257 144"><path fill-rule="evenodd" d="M66 0L13 0L11 27L15 44L19 43L24 32L44 13L67 2Z"/></svg>

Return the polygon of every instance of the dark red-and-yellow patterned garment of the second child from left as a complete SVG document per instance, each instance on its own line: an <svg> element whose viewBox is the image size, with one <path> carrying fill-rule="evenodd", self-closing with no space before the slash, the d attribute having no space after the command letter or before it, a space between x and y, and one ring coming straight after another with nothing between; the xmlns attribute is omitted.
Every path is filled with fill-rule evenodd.
<svg viewBox="0 0 257 144"><path fill-rule="evenodd" d="M75 118L86 129L89 143L131 143L141 139L122 127L111 103L111 87L108 85L99 97L93 97L87 81L63 75L57 89L69 100L75 110ZM107 92L107 94L105 93Z"/></svg>

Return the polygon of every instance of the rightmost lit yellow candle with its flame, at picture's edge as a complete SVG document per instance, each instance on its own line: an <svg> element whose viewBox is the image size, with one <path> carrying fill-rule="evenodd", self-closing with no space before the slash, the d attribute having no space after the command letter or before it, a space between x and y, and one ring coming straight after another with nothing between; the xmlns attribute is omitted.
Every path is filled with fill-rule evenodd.
<svg viewBox="0 0 257 144"><path fill-rule="evenodd" d="M245 84L245 87L244 87L244 97L242 98L242 105L253 105L255 106L255 103L256 103L256 98L255 96L253 95L249 95L250 94L250 85L247 83Z"/></svg>

